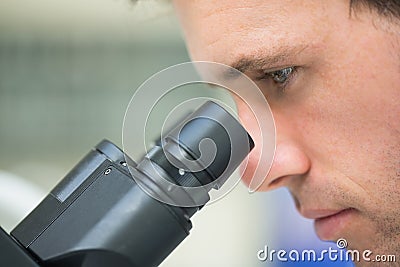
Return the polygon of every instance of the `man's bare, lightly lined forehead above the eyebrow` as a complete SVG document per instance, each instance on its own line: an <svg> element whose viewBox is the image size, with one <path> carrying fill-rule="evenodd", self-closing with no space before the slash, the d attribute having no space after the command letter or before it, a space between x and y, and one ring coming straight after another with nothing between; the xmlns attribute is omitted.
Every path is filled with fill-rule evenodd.
<svg viewBox="0 0 400 267"><path fill-rule="evenodd" d="M321 41L348 17L348 1L175 0L195 60L228 64L258 50Z"/></svg>

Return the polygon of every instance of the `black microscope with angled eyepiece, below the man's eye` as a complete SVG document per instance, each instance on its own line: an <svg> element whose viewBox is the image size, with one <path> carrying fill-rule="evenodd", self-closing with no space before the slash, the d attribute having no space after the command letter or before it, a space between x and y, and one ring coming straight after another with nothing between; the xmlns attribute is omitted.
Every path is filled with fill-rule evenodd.
<svg viewBox="0 0 400 267"><path fill-rule="evenodd" d="M204 149L204 141L212 145ZM139 162L103 140L10 235L0 228L0 266L158 266L253 147L240 123L212 101Z"/></svg>

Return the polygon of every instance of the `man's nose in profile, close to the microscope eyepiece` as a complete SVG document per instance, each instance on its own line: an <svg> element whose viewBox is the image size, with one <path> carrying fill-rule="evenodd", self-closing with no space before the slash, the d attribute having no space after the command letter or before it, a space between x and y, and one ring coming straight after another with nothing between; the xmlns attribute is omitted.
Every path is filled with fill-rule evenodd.
<svg viewBox="0 0 400 267"><path fill-rule="evenodd" d="M249 156L249 162L243 172L242 180L248 186L251 186L251 180L254 178L255 169L263 165L269 165L270 162L259 162L261 155L261 135L254 116L245 106L238 105L239 117L250 135L255 139L255 149ZM310 171L311 160L302 147L302 140L299 133L301 129L296 129L295 124L283 115L275 114L276 127L276 149L271 168L262 182L258 191L269 191L278 187L291 187L294 183L301 182L302 177ZM253 191L256 188L250 188Z"/></svg>

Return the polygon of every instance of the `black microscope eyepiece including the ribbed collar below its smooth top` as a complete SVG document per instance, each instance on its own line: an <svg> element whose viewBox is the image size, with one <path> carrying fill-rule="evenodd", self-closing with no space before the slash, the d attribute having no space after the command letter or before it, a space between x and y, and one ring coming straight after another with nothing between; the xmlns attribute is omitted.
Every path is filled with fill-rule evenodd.
<svg viewBox="0 0 400 267"><path fill-rule="evenodd" d="M130 172L149 195L182 207L208 202L209 191L219 189L254 147L243 126L211 101L162 136L158 144Z"/></svg>

